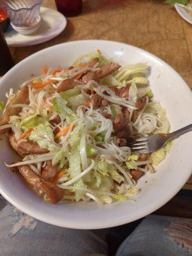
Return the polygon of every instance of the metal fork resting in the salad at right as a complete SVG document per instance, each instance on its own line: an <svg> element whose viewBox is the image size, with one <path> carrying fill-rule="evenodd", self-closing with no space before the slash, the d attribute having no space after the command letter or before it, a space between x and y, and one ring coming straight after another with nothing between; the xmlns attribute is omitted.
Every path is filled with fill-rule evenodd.
<svg viewBox="0 0 192 256"><path fill-rule="evenodd" d="M144 138L130 138L128 140L128 147L139 154L155 152L162 148L168 140L175 139L189 131L192 131L192 124L168 134L159 133Z"/></svg>

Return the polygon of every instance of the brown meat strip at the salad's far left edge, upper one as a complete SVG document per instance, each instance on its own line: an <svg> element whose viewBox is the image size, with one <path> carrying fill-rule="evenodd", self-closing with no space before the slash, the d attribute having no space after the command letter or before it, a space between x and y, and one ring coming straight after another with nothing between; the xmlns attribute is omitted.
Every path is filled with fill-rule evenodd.
<svg viewBox="0 0 192 256"><path fill-rule="evenodd" d="M15 97L10 100L10 103L6 106L6 109L3 115L0 118L0 126L4 124L8 124L10 121L10 116L18 115L22 108L11 108L12 104L29 104L29 88L28 86L24 86L22 89L18 90L15 93ZM0 134L4 134L9 129L0 130Z"/></svg>

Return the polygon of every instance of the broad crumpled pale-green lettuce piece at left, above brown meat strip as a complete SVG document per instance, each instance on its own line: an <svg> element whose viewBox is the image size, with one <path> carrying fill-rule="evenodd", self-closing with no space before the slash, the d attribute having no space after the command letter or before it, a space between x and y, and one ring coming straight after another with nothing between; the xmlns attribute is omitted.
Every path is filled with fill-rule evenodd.
<svg viewBox="0 0 192 256"><path fill-rule="evenodd" d="M38 143L41 148L47 148L50 152L60 150L59 145L54 141L54 134L48 122L36 126L29 135L29 140Z"/></svg>

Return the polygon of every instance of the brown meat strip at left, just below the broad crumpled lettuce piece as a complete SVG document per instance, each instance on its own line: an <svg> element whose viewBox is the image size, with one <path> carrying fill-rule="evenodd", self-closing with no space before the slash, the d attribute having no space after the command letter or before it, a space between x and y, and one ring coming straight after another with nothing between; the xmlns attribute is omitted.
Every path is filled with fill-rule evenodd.
<svg viewBox="0 0 192 256"><path fill-rule="evenodd" d="M32 141L22 141L17 145L14 132L11 132L9 140L11 147L22 157L27 154L45 154L49 152L46 148L40 148L38 143Z"/></svg>

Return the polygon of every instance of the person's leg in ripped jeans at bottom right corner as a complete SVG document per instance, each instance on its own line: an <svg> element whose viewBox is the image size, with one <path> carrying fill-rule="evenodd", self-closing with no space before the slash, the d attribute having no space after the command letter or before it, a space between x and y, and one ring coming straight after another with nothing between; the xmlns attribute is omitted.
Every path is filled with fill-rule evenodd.
<svg viewBox="0 0 192 256"><path fill-rule="evenodd" d="M116 256L192 256L192 220L149 215Z"/></svg>

